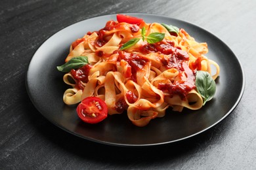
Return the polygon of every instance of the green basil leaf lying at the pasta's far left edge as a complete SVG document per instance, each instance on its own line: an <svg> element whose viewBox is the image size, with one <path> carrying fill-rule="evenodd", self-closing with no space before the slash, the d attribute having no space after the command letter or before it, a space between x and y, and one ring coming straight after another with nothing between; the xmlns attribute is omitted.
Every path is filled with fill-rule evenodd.
<svg viewBox="0 0 256 170"><path fill-rule="evenodd" d="M88 64L88 58L85 56L77 56L64 63L64 65L57 66L58 71L70 72L72 69L77 69L83 65Z"/></svg>

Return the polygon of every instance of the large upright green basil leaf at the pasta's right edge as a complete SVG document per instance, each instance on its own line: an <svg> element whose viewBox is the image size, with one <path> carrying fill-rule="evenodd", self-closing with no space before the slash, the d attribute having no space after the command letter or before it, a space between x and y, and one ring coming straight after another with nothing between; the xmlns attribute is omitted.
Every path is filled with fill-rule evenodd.
<svg viewBox="0 0 256 170"><path fill-rule="evenodd" d="M216 92L216 84L207 71L196 72L196 89L203 97L203 105L210 101Z"/></svg>

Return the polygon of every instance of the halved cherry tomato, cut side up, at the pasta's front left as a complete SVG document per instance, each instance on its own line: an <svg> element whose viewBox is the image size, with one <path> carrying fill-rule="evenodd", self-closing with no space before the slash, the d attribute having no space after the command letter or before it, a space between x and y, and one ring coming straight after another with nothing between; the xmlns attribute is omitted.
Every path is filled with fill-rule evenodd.
<svg viewBox="0 0 256 170"><path fill-rule="evenodd" d="M89 124L97 124L108 116L105 101L98 97L86 97L79 103L76 111L79 118Z"/></svg>

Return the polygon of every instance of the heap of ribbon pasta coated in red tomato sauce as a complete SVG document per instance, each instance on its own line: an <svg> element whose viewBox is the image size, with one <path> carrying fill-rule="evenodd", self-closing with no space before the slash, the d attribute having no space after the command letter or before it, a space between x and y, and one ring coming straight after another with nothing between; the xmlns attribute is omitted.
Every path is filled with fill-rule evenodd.
<svg viewBox="0 0 256 170"><path fill-rule="evenodd" d="M147 39L152 33L164 37L150 43ZM138 40L135 44L120 49L134 39ZM204 99L196 88L196 71L208 72L213 80L220 73L219 65L205 56L207 52L206 42L197 42L182 28L175 35L159 23L108 21L70 46L66 62L85 56L88 63L64 75L64 82L72 86L64 92L64 103L74 105L86 97L99 97L108 114L127 110L136 126L165 116L168 108L198 110Z"/></svg>

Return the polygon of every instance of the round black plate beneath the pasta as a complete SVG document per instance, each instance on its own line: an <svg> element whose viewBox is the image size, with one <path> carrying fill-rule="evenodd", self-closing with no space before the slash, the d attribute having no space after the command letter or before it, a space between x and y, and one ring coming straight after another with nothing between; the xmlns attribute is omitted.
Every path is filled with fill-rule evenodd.
<svg viewBox="0 0 256 170"><path fill-rule="evenodd" d="M100 16L70 25L47 39L35 52L26 77L26 86L35 107L56 126L84 139L117 146L149 146L173 143L202 133L221 122L238 105L244 92L244 73L238 58L215 35L204 29L165 16L154 14L130 14L144 18L148 23L159 22L184 28L198 42L207 42L208 58L219 63L221 74L217 78L214 99L200 110L184 109L182 113L167 110L166 116L156 118L146 127L134 126L126 114L108 116L100 124L81 122L75 106L62 101L66 86L63 73L56 66L62 65L70 44L83 37L87 31L104 27L108 20L116 20L116 14Z"/></svg>

